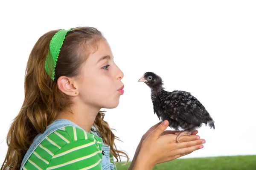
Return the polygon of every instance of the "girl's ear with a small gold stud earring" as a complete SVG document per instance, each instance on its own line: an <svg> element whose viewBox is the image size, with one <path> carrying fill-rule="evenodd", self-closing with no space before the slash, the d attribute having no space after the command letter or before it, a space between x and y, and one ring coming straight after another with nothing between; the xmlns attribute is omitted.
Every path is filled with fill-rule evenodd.
<svg viewBox="0 0 256 170"><path fill-rule="evenodd" d="M61 76L57 80L57 85L60 91L68 96L76 96L78 94L76 81L73 78Z"/></svg>

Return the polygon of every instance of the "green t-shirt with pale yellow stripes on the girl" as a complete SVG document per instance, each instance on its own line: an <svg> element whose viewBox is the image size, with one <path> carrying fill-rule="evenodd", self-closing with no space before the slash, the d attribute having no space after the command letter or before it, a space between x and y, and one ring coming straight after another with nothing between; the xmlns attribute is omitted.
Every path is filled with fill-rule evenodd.
<svg viewBox="0 0 256 170"><path fill-rule="evenodd" d="M23 170L102 170L102 138L74 126L49 134L26 161ZM110 161L114 163L110 153Z"/></svg>

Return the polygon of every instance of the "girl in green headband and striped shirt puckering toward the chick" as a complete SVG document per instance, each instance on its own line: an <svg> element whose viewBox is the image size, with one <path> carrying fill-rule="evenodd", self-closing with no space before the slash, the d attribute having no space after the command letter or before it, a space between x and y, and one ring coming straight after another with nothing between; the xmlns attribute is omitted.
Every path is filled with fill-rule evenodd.
<svg viewBox="0 0 256 170"><path fill-rule="evenodd" d="M96 28L40 37L27 62L25 99L1 170L116 170L113 157L128 155L116 148L118 138L100 110L118 106L123 76ZM177 143L167 127L168 121L159 122L142 136L129 170L151 170L203 147L197 131Z"/></svg>

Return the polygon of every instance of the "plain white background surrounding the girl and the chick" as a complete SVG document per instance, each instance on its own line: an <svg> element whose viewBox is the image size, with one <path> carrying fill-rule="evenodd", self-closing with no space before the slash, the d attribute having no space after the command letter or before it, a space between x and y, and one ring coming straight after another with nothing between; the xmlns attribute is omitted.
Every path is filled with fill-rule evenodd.
<svg viewBox="0 0 256 170"><path fill-rule="evenodd" d="M105 120L131 159L143 133L159 122L150 89L137 82L146 71L159 74L167 91L191 92L215 121L215 130L199 129L204 149L184 158L256 154L255 1L155 2L0 3L0 164L9 125L23 103L32 47L49 30L77 26L102 31L125 74L125 94Z"/></svg>

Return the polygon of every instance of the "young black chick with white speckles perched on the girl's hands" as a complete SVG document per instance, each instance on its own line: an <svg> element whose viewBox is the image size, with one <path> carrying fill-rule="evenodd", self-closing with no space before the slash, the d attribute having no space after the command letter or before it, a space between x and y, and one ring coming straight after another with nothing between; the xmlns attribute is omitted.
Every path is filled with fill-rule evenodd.
<svg viewBox="0 0 256 170"><path fill-rule="evenodd" d="M160 76L146 72L138 82L145 82L151 88L151 99L154 113L160 121L168 120L169 127L181 130L180 136L191 135L192 131L206 124L215 129L211 116L194 96L186 91L165 91Z"/></svg>

